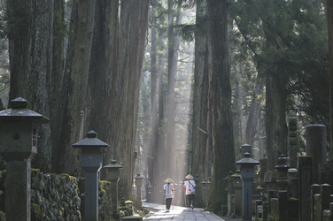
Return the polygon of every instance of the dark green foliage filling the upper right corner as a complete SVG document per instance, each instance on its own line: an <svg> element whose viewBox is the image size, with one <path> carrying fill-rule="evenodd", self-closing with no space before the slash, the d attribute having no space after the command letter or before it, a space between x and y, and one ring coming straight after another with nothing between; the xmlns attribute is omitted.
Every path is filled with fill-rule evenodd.
<svg viewBox="0 0 333 221"><path fill-rule="evenodd" d="M230 39L235 42L235 51L239 51L239 56L232 59L239 64L252 57L256 69L249 72L250 76L258 71L259 77L264 77L260 74L272 74L269 70L277 66L288 82L288 110L298 112L303 124L329 125L325 5L323 0L235 0L229 6L230 19L236 25L235 37ZM275 46L268 47L267 39L272 39ZM238 70L235 68L235 72ZM242 82L245 93L251 91L252 85L248 78Z"/></svg>

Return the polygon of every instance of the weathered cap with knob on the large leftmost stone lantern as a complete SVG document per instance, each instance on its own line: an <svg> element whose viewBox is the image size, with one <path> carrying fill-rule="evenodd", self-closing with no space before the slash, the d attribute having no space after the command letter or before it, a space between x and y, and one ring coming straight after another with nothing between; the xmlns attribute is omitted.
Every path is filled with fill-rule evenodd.
<svg viewBox="0 0 333 221"><path fill-rule="evenodd" d="M45 124L49 122L49 118L34 110L27 109L27 100L22 97L15 98L11 101L12 109L0 111L0 121L27 120L35 123Z"/></svg>

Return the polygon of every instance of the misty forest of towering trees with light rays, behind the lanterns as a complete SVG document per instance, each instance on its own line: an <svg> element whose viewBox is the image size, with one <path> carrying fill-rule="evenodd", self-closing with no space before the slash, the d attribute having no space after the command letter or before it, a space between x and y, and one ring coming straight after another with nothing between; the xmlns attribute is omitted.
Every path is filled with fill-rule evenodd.
<svg viewBox="0 0 333 221"><path fill-rule="evenodd" d="M244 144L267 171L281 154L296 167L321 124L332 162L332 15L329 0L1 0L1 110L22 97L50 118L33 168L83 176L72 145L94 130L121 197L140 173L163 202L164 180L191 174L216 212Z"/></svg>

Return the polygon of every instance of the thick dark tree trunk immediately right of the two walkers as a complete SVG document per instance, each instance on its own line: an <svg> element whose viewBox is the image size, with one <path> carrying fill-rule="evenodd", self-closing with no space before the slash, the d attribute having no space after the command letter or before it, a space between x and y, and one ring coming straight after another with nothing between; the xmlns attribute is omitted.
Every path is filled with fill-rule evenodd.
<svg viewBox="0 0 333 221"><path fill-rule="evenodd" d="M212 189L208 209L221 210L227 202L223 179L235 171L235 147L231 117L228 69L228 1L207 1L210 111L212 111Z"/></svg>

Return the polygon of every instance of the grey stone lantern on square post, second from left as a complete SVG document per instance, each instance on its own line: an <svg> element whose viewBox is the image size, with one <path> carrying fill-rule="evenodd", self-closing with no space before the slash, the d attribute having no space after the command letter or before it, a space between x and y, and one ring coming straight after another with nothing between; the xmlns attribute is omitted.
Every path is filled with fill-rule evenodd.
<svg viewBox="0 0 333 221"><path fill-rule="evenodd" d="M98 171L102 167L101 150L108 146L97 138L95 131L89 131L87 138L73 144L74 148L81 149L81 166L85 175L84 220L98 220Z"/></svg>

